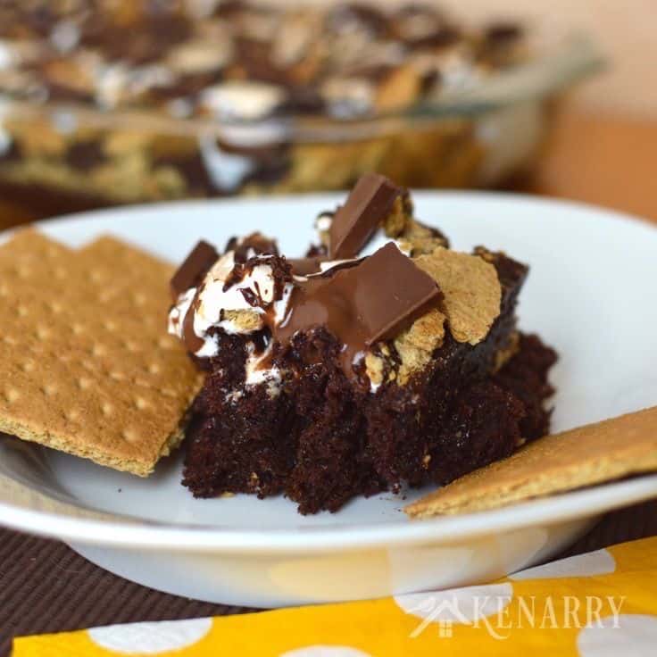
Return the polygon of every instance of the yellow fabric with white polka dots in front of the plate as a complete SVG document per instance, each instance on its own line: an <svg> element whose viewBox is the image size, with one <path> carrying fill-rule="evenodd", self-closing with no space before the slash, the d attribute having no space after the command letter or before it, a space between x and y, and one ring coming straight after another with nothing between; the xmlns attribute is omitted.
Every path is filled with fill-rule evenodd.
<svg viewBox="0 0 657 657"><path fill-rule="evenodd" d="M478 603L473 602L475 597ZM486 586L23 637L15 640L13 653L14 657L143 654L657 655L657 537L554 561Z"/></svg>

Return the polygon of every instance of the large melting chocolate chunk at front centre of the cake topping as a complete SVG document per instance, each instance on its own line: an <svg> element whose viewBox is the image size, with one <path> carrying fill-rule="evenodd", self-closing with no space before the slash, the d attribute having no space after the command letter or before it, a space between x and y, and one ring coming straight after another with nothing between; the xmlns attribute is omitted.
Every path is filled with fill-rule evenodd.
<svg viewBox="0 0 657 657"><path fill-rule="evenodd" d="M286 344L298 331L325 327L345 344L341 364L353 376L359 353L395 337L441 298L436 282L392 243L352 267L314 276L292 293L274 336Z"/></svg>

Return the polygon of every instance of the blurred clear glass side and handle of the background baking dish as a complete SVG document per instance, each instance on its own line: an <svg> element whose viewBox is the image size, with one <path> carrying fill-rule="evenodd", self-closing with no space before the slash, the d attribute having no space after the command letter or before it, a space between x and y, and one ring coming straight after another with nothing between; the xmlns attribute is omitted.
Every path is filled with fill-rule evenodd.
<svg viewBox="0 0 657 657"><path fill-rule="evenodd" d="M490 187L536 162L556 104L602 58L585 35L531 37L516 66L403 110L256 121L0 96L0 198L34 217L111 204L349 187ZM20 96L20 95L19 95Z"/></svg>

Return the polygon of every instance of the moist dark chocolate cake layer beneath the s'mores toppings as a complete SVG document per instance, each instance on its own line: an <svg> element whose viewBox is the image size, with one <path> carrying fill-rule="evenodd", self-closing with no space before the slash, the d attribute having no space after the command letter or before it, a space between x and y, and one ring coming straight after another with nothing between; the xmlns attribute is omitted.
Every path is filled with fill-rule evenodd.
<svg viewBox="0 0 657 657"><path fill-rule="evenodd" d="M445 484L543 435L556 354L516 332L527 268L488 257L503 298L486 339L472 346L445 336L404 386L372 394L347 378L342 345L314 328L275 345L272 363L288 374L272 395L266 385L245 386L244 340L218 333L188 432L184 485L199 497L283 493L302 513L337 511L354 495Z"/></svg>

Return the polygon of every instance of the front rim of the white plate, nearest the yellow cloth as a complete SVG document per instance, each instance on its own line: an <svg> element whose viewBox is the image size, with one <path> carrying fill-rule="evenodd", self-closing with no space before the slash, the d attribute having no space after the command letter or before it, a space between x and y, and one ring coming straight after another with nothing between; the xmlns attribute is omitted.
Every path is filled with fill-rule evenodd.
<svg viewBox="0 0 657 657"><path fill-rule="evenodd" d="M171 550L174 552L316 553L380 545L398 547L452 543L517 528L561 523L612 511L657 496L657 475L590 487L545 499L429 520L400 520L380 525L334 525L289 529L235 529L79 520L61 514L17 509L0 503L1 524L38 536L91 545Z"/></svg>

